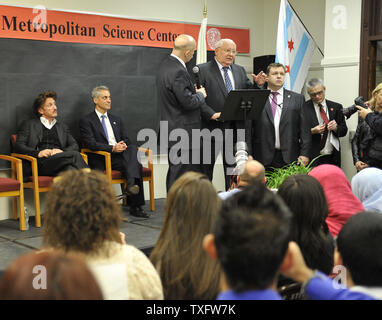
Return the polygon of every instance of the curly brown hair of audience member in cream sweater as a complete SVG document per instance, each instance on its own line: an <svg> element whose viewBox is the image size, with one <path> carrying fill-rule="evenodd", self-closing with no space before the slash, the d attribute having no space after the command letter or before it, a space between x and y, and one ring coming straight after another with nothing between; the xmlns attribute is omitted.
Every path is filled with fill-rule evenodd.
<svg viewBox="0 0 382 320"><path fill-rule="evenodd" d="M105 241L121 243L120 213L102 172L66 171L47 197L44 244L65 252L96 254Z"/></svg>

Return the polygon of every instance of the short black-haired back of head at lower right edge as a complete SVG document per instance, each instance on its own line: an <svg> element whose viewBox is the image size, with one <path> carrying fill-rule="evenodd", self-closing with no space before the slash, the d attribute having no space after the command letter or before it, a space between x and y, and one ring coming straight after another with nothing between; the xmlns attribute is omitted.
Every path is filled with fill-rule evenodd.
<svg viewBox="0 0 382 320"><path fill-rule="evenodd" d="M337 248L356 285L382 287L382 215L360 212L341 229Z"/></svg>

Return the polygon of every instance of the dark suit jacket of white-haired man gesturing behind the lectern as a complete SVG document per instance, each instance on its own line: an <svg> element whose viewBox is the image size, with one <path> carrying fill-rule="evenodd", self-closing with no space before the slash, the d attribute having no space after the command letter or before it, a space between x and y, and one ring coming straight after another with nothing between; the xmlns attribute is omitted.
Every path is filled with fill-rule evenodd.
<svg viewBox="0 0 382 320"><path fill-rule="evenodd" d="M247 73L242 66L232 64L231 68L235 89L258 89L257 85L252 84L252 82L248 79ZM215 128L246 128L246 141L248 147L251 148L250 121L248 121L247 124L244 124L243 121L227 121L221 124L215 120L211 120L214 113L223 111L224 103L228 95L223 77L215 59L199 65L199 80L200 84L207 91L206 100L201 107L202 127L210 130Z"/></svg>

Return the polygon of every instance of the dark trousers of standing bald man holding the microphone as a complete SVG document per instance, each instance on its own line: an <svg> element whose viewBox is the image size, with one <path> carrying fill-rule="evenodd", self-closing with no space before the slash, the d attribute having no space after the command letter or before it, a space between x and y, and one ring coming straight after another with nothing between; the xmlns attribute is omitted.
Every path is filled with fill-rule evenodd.
<svg viewBox="0 0 382 320"><path fill-rule="evenodd" d="M170 155L170 150L168 149L167 155L168 155L168 171L167 171L167 177L166 177L166 189L167 192L170 190L171 186L173 183L184 173L188 171L195 171L195 172L202 172L201 166L199 163L199 159L197 159L196 162L198 163L193 163L192 161L192 155L194 153L198 153L199 150L178 150L177 152L177 159L181 159L182 153L184 152L185 158L187 160L185 162L179 162L176 161L177 159L172 159L172 156Z"/></svg>

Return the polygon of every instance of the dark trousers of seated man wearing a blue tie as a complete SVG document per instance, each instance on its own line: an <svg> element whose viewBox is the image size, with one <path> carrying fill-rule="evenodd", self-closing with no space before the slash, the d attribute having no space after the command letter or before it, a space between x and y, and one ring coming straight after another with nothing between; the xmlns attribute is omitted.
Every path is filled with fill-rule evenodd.
<svg viewBox="0 0 382 320"><path fill-rule="evenodd" d="M121 153L112 153L111 168L122 172L124 178L132 181L139 187L139 193L127 197L127 204L131 207L139 207L145 204L143 192L142 165L139 163L138 148L136 145L128 145L126 150Z"/></svg>

